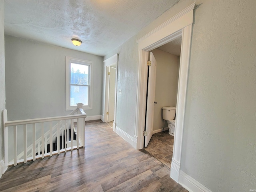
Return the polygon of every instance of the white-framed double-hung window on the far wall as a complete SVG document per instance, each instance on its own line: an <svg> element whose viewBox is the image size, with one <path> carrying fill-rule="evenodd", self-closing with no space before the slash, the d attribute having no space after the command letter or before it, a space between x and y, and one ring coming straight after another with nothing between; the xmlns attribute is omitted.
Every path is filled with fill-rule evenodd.
<svg viewBox="0 0 256 192"><path fill-rule="evenodd" d="M66 110L92 109L92 61L66 57Z"/></svg>

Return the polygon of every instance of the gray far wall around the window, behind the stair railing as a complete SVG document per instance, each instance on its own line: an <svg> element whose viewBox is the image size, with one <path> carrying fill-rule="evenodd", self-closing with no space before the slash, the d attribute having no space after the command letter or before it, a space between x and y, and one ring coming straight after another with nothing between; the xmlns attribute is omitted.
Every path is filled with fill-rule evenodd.
<svg viewBox="0 0 256 192"><path fill-rule="evenodd" d="M65 111L65 56L94 62L93 109L101 114L103 57L5 36L8 120L69 114Z"/></svg>

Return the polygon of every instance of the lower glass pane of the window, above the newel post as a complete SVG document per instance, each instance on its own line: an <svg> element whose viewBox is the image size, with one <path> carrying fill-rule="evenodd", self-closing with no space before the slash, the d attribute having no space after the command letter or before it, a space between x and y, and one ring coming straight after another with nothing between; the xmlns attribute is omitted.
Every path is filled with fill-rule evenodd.
<svg viewBox="0 0 256 192"><path fill-rule="evenodd" d="M70 106L76 106L76 103L88 105L88 86L70 86Z"/></svg>

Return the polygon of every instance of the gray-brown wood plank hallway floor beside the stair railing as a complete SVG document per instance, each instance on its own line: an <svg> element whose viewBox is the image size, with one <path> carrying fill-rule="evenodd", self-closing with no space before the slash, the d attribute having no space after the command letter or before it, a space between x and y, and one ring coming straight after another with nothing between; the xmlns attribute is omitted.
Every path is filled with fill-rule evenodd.
<svg viewBox="0 0 256 192"><path fill-rule="evenodd" d="M166 166L101 120L86 122L85 148L8 168L0 191L187 192Z"/></svg>

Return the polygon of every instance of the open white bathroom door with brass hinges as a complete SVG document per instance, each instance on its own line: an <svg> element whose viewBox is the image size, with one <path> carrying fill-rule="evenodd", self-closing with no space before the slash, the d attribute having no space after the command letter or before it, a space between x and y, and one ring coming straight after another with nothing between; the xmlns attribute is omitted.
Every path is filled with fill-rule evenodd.
<svg viewBox="0 0 256 192"><path fill-rule="evenodd" d="M145 147L153 135L153 123L154 123L154 102L156 92L156 59L152 52L150 52L151 66L149 66L148 73L148 98L147 98L147 112L146 112L146 132Z"/></svg>

